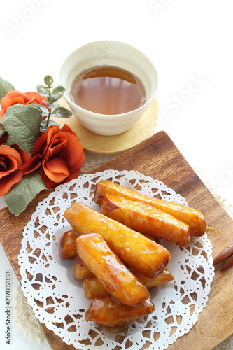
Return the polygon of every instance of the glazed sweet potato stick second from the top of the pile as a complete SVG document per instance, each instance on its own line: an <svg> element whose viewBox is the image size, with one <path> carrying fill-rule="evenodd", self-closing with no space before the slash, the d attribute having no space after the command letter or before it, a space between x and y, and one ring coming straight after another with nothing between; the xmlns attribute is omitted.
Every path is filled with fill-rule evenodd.
<svg viewBox="0 0 233 350"><path fill-rule="evenodd" d="M127 200L119 195L107 194L101 211L132 230L172 241L186 248L190 244L189 226L174 216L143 202Z"/></svg>

